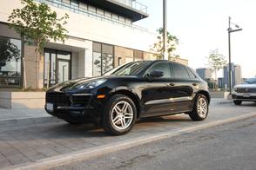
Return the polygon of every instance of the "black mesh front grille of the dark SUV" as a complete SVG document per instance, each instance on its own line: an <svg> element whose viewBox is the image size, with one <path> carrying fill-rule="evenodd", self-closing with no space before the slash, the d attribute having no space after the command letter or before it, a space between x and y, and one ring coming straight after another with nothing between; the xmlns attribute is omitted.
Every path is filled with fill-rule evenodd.
<svg viewBox="0 0 256 170"><path fill-rule="evenodd" d="M46 93L46 102L51 102L59 105L69 105L69 97L64 93L51 92Z"/></svg>

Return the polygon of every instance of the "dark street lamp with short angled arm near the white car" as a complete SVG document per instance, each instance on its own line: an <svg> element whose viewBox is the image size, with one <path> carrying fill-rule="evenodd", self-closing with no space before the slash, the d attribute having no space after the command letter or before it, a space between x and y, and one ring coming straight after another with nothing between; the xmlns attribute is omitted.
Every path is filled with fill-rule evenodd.
<svg viewBox="0 0 256 170"><path fill-rule="evenodd" d="M231 27L231 24L234 25L237 29L232 29ZM228 32L228 82L229 82L229 95L232 94L232 79L231 79L231 73L232 73L232 69L231 69L231 42L230 42L230 34L232 32L237 32L237 31L240 31L242 29L239 28L239 25L238 24L235 24L235 23L232 23L231 22L231 17L228 16L228 29L227 29L227 32Z"/></svg>

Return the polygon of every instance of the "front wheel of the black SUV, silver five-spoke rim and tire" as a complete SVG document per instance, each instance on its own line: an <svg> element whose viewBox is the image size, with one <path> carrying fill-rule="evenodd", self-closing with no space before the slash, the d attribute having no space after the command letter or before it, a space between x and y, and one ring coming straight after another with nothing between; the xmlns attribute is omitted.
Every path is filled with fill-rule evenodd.
<svg viewBox="0 0 256 170"><path fill-rule="evenodd" d="M109 134L126 134L131 131L136 119L137 109L131 98L113 95L105 105L102 127Z"/></svg>

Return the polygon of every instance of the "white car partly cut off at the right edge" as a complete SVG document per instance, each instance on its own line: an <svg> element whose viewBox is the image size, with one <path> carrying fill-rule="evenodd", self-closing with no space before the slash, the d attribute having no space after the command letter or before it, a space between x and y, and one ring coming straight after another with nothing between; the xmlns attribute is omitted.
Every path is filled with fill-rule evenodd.
<svg viewBox="0 0 256 170"><path fill-rule="evenodd" d="M256 101L256 77L236 85L232 90L232 99L235 105L242 104L242 101Z"/></svg>

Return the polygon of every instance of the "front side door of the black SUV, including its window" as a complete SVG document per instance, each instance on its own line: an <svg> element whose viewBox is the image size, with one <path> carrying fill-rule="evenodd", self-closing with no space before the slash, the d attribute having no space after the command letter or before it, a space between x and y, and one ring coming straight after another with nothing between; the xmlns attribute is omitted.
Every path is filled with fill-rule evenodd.
<svg viewBox="0 0 256 170"><path fill-rule="evenodd" d="M145 81L145 88L142 90L142 103L144 104L144 114L142 116L153 116L159 114L169 114L172 112L172 91L170 90L171 68L169 62L156 62L145 74L159 70L163 76Z"/></svg>

